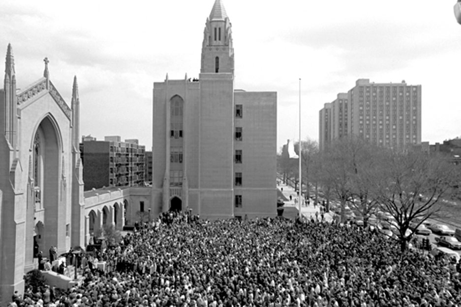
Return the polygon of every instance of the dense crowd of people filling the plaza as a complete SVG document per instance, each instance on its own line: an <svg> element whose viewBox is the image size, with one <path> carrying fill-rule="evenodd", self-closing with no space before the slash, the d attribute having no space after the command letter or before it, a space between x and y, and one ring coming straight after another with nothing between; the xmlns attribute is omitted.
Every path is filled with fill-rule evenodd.
<svg viewBox="0 0 461 307"><path fill-rule="evenodd" d="M167 213L102 255L60 295L27 289L18 306L460 306L460 267L358 226L204 221Z"/></svg>

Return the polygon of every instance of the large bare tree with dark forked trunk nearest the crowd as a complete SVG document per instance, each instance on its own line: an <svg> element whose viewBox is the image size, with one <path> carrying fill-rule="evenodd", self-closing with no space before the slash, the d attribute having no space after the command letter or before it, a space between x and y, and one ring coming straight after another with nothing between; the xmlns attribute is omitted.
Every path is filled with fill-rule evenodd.
<svg viewBox="0 0 461 307"><path fill-rule="evenodd" d="M406 251L416 228L440 213L442 196L459 181L459 171L446 159L412 150L382 151L382 167L373 184L381 207L395 219L401 251Z"/></svg>

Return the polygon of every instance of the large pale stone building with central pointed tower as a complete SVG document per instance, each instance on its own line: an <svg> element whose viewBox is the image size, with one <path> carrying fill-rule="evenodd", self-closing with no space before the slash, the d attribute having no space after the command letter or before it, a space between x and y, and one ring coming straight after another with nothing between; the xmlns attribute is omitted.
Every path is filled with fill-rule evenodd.
<svg viewBox="0 0 461 307"><path fill-rule="evenodd" d="M154 213L277 213L277 92L234 88L232 27L221 0L206 21L198 80L154 83Z"/></svg>

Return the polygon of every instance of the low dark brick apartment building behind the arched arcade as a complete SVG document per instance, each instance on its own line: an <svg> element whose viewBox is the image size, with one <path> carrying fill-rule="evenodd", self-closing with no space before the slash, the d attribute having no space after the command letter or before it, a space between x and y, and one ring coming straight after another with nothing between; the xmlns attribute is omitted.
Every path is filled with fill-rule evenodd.
<svg viewBox="0 0 461 307"><path fill-rule="evenodd" d="M103 141L82 138L85 191L102 187L144 185L145 146L138 140L121 141L119 136Z"/></svg>

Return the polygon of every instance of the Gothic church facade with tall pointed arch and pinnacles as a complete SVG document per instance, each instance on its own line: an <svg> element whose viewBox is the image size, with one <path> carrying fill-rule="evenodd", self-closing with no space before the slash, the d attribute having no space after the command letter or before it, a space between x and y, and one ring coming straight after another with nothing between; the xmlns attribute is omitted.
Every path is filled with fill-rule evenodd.
<svg viewBox="0 0 461 307"><path fill-rule="evenodd" d="M38 251L58 253L85 244L82 166L78 152L79 98L71 108L43 77L17 90L8 45L0 90L0 287L2 298L23 291L24 273Z"/></svg>

